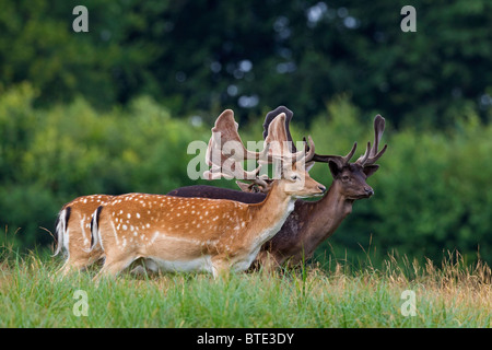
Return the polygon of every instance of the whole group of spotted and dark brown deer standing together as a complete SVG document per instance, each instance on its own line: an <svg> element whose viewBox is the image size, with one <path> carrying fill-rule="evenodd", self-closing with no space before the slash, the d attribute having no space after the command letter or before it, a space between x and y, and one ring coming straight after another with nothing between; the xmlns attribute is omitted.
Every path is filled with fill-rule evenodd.
<svg viewBox="0 0 492 350"><path fill-rule="evenodd" d="M167 195L126 194L79 197L58 214L55 255L67 256L59 273L66 276L103 260L96 275L133 271L204 271L219 277L229 271L295 266L313 256L352 211L355 200L374 191L366 178L375 162L385 119L374 119L374 143L351 162L356 143L342 155L320 155L311 137L300 150L290 132L292 112L284 106L267 114L262 150L243 143L231 109L215 120L203 178L235 178L241 190L196 185ZM244 162L255 162L245 171ZM331 186L309 176L327 163ZM273 175L269 176L270 173ZM302 198L321 197L318 200Z"/></svg>

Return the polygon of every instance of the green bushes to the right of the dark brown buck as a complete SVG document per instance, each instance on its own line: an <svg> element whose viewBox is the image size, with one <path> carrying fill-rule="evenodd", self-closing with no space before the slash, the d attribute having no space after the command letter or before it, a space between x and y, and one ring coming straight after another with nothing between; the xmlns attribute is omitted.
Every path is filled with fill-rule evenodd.
<svg viewBox="0 0 492 350"><path fill-rule="evenodd" d="M319 129L337 132L337 119L345 117L332 116ZM358 140L359 144L372 141L372 124L364 119L362 127L366 132L362 136L339 131L342 136L335 133L333 139ZM361 126L355 120L350 124L358 125L355 130ZM349 130L351 126L344 128ZM347 145L345 151L330 151L336 141L331 142L333 147L320 148L318 140L323 139L315 140L317 150L324 153L344 154L349 150ZM367 179L375 196L356 201L352 214L320 250L343 257L345 250L352 255L376 247L379 258L395 249L438 259L444 250L458 249L470 261L478 257L492 261L492 196L487 190L492 178L492 166L487 161L491 140L492 127L483 125L471 112L454 127L438 131L411 127L396 131L389 124L382 141L388 143L388 150L378 161L379 171ZM325 167L326 174L318 177L315 170L319 166ZM323 165L316 165L312 174L317 179L329 176Z"/></svg>

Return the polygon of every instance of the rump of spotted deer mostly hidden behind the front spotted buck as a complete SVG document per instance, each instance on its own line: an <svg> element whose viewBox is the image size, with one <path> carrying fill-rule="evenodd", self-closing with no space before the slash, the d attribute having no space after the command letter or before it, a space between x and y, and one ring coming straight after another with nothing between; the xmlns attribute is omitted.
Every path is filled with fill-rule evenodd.
<svg viewBox="0 0 492 350"><path fill-rule="evenodd" d="M113 196L82 196L66 203L57 217L57 248L54 256L66 256L63 266L58 270L62 276L81 270L99 260L104 253L96 246L91 252L91 221L94 211Z"/></svg>

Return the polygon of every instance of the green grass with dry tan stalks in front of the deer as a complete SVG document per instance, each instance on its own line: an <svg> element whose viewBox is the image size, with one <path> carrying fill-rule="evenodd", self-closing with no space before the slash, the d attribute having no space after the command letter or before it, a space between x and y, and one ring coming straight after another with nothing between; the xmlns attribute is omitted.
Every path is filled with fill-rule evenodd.
<svg viewBox="0 0 492 350"><path fill-rule="evenodd" d="M459 257L218 280L127 273L95 285L95 268L60 280L62 260L39 256L3 248L0 327L491 327L491 270Z"/></svg>

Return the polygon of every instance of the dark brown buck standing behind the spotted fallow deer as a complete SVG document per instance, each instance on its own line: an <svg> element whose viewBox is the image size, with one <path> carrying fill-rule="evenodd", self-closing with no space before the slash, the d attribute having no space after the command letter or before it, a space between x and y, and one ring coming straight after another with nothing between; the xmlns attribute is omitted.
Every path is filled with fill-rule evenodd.
<svg viewBox="0 0 492 350"><path fill-rule="evenodd" d="M285 113L285 125L286 130L289 130L292 112L285 107L279 107L267 115L263 125L263 137L268 136L268 125L273 120L277 113ZM355 153L356 143L345 156L319 155L315 153L312 158L313 162L328 163L333 178L330 188L318 201L313 202L301 199L295 201L294 211L286 219L280 232L261 247L254 262L255 266L261 265L266 269L272 269L283 265L285 261L290 266L294 266L303 259L312 257L316 247L331 236L343 219L352 212L353 202L374 195L374 190L367 185L366 179L378 170L379 166L375 162L387 149L387 145L385 145L383 150L377 152L384 129L385 119L377 115L374 119L374 144L371 147L368 142L365 153L354 163L350 163L350 160ZM289 131L288 138L292 141ZM291 151L296 152L293 144ZM306 168L312 166L312 162L306 163ZM261 201L266 196L262 192L248 194L204 185L178 188L171 191L169 195L234 198L234 200L248 202L255 199Z"/></svg>

